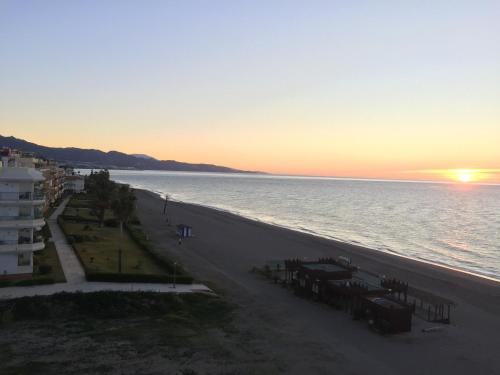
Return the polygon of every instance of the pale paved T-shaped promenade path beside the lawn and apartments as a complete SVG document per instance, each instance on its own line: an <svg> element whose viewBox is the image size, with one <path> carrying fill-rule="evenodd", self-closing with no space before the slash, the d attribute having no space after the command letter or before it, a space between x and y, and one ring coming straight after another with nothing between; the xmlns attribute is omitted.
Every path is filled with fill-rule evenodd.
<svg viewBox="0 0 500 375"><path fill-rule="evenodd" d="M203 284L157 284L157 283L113 283L113 282L89 282L85 279L85 272L80 261L76 257L73 248L66 241L57 217L62 214L68 204L66 198L47 220L52 233L57 255L66 277L65 283L34 286L14 286L0 288L0 299L12 299L19 297L29 297L35 295L51 295L60 292L83 292L91 293L98 291L122 291L122 292L158 292L158 293L212 293Z"/></svg>

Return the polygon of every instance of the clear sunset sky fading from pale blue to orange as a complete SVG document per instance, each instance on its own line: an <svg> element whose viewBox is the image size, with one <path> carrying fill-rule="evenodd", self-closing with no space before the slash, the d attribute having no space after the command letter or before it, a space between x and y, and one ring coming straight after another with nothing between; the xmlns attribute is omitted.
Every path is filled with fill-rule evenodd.
<svg viewBox="0 0 500 375"><path fill-rule="evenodd" d="M0 134L500 182L499 1L0 0Z"/></svg>

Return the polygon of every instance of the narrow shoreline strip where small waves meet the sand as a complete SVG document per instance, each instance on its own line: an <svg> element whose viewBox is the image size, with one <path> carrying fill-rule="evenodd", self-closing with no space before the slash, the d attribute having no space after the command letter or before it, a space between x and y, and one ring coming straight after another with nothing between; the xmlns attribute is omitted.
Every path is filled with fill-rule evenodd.
<svg viewBox="0 0 500 375"><path fill-rule="evenodd" d="M145 193L152 194L156 198L161 199L161 200L164 201L164 198L162 197L162 193L161 192L151 191L151 190L147 190L147 189L143 189L143 188L135 188L135 190L140 190L140 191L143 191ZM343 246L346 246L346 247L352 246L352 247L355 247L356 249L360 249L362 251L368 251L368 252L373 252L373 253L380 253L380 254L384 254L384 255L388 255L388 256L394 256L394 257L401 258L401 259L408 260L408 261L413 261L413 262L421 263L423 265L437 267L437 268L442 269L443 271L456 272L456 273L459 273L459 274L463 274L464 276L470 276L470 277L482 279L482 280L485 280L485 281L494 282L494 283L497 283L498 286L500 287L500 278L495 278L495 277L492 277L492 276L487 276L487 275L475 273L475 272L472 272L472 271L467 271L467 270L464 270L464 269L454 268L454 267L449 266L447 264L433 262L433 261L429 261L429 260L426 260L426 259L412 258L412 257L406 256L406 255L403 255L403 254L399 254L399 253L397 253L395 251L377 250L377 249L365 246L365 245L360 244L360 243L355 243L355 241L354 242L350 242L348 240L337 239L337 238L334 238L334 237L329 237L329 236L326 236L326 235L322 235L322 234L314 232L312 230L306 230L306 229L301 230L299 228L293 228L293 227L289 227L289 226L286 226L286 225L283 225L283 224L279 224L279 223L267 222L267 221L264 221L264 220L260 220L259 218L256 218L256 217L246 216L244 214L241 214L241 213L238 213L238 212L233 212L233 211L226 210L226 209L219 208L219 207L214 207L214 206L209 206L209 205L203 205L203 204L199 204L199 203L191 203L191 202L186 202L186 201L172 199L172 198L169 199L169 203L170 202L177 203L177 204L183 204L183 205L195 206L195 207L199 207L199 208L202 208L202 209L214 210L214 211L217 211L217 212L220 212L220 213L223 213L223 214L233 215L233 216L235 216L237 218L241 218L241 219L244 219L244 220L254 221L256 223L260 223L260 224L263 224L263 225L269 225L271 227L275 227L275 228L278 228L278 229L290 230L292 232L297 232L297 233L300 233L300 234L312 236L312 237L315 237L315 238L318 238L318 239L332 241L332 242L335 242L337 245L339 245L341 247L343 247Z"/></svg>

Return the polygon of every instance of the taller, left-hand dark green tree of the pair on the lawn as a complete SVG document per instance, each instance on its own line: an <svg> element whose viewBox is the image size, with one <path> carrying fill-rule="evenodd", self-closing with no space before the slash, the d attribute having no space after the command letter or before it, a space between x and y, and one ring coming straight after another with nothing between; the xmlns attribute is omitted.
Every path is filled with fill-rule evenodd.
<svg viewBox="0 0 500 375"><path fill-rule="evenodd" d="M104 169L99 172L91 173L85 180L85 188L95 199L93 199L93 208L99 219L100 227L104 224L104 214L106 209L110 208L116 184L109 179L109 171Z"/></svg>

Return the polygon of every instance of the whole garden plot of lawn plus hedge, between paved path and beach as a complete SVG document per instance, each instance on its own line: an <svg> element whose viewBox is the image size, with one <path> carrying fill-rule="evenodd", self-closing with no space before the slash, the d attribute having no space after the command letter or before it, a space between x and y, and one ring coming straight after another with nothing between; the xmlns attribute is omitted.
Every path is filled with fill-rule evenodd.
<svg viewBox="0 0 500 375"><path fill-rule="evenodd" d="M179 283L192 282L181 266L174 267L172 261L155 253L135 216L131 220L133 225L127 225L121 233L112 210L106 210L105 225L101 227L88 207L91 203L91 195L76 194L59 218L59 225L73 245L88 280L164 283L172 281L175 268Z"/></svg>

